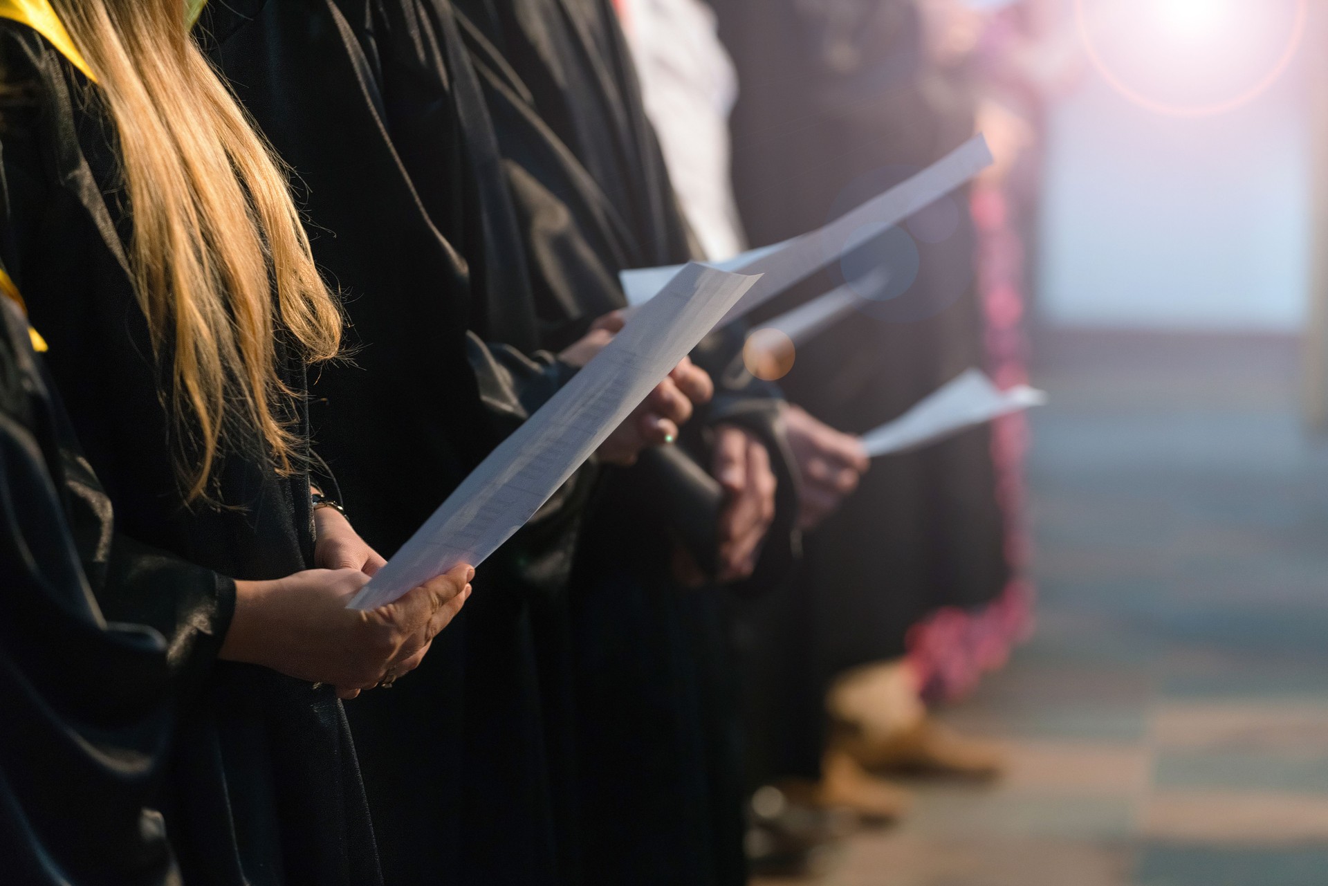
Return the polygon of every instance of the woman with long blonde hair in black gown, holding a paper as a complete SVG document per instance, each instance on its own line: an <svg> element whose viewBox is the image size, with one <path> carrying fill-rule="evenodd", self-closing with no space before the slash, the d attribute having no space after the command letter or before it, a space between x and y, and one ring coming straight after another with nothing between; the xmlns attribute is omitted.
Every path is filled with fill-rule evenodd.
<svg viewBox="0 0 1328 886"><path fill-rule="evenodd" d="M145 262L181 268L187 259L158 250L146 234L137 239L135 226L145 215L169 211L162 210L167 194L193 199L198 193L179 179L138 179L134 186L124 139L141 142L133 128L149 120L126 118L117 101L154 90L173 94L173 114L197 109L185 96L199 105L210 101L218 114L210 122L228 126L232 146L250 149L248 194L270 213L259 244L258 230L250 227L256 222L242 199L244 221L231 218L226 228L234 238L230 246L251 243L251 255L282 248L288 262L255 266L248 279L258 302L248 307L256 316L272 310L268 288L275 278L291 287L283 291L283 311L299 315L301 307L312 310L317 299L328 299L321 307L332 311L327 316L333 340L340 320L301 252L303 239L293 234L297 217L275 163L263 166L271 162L264 147L191 48L179 4L5 4L0 19L7 97L0 252L50 345L54 387L116 507L120 535L110 569L121 573L105 583L98 602L108 619L150 626L166 639L169 697L179 725L157 800L181 871L186 882L235 886L380 882L337 695L353 696L418 664L429 639L463 602L466 573L430 582L368 616L345 608L381 558L340 514L313 505L315 460L301 396L305 356L279 321L271 335L272 384L280 388L271 404L287 429L288 464L278 464L275 449L264 446L270 440L238 418L227 425L230 436L220 438L211 470L193 474L202 474L206 497L190 498L190 473L182 468L197 468L206 429L194 413L173 408L173 389L189 377L187 367L171 356L173 327L166 324L165 340L154 336L141 307L159 306L166 292L137 278ZM80 53L80 40L101 53L92 56L97 66ZM131 46L118 61L108 49L117 45ZM141 72L159 70L153 65L171 77L149 84ZM94 72L101 74L96 82ZM147 105L139 110L153 113ZM199 139L194 162L207 162L201 158L219 149L211 141L218 130L208 125L167 116L155 124L183 126L177 138ZM141 149L138 143L135 162L143 161ZM208 186L230 181L244 191L234 178L234 161L210 157L216 169ZM181 157L165 151L154 162L147 167L178 170ZM258 187L267 190L259 194ZM158 199L162 206L147 202ZM210 218L226 217L214 207ZM288 219L290 227L283 232L274 218ZM239 274L206 240L197 244L218 274ZM145 256L139 247L151 251ZM305 276L293 282L288 275L299 268ZM230 299L230 311L243 310L236 300L242 278L231 278L236 283L224 291L210 291L212 279L195 278L193 288L177 280L171 294L189 294L186 307L218 298ZM238 396L238 384L228 376L223 396ZM345 562L353 566L311 569ZM191 580L178 580L179 570Z"/></svg>

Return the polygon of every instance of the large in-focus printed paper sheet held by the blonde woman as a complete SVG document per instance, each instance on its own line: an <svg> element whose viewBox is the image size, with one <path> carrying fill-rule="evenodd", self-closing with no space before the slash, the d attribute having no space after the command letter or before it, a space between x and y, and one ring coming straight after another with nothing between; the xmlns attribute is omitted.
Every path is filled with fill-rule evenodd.
<svg viewBox="0 0 1328 886"><path fill-rule="evenodd" d="M534 517L757 279L700 264L684 267L461 482L351 607L377 608L459 563L482 563Z"/></svg>

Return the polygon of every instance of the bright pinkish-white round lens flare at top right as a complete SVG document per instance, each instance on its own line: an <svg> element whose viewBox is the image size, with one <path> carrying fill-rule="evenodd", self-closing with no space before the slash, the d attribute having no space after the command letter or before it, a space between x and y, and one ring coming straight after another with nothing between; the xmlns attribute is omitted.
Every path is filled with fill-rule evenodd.
<svg viewBox="0 0 1328 886"><path fill-rule="evenodd" d="M1162 82L1171 80L1190 84L1226 82L1236 61L1259 52L1259 36L1275 27L1275 16L1286 4L1274 0L1145 0L1121 3L1100 0L1090 9L1090 0L1074 0L1074 15L1085 53L1098 74L1131 102L1170 117L1214 117L1242 108L1266 93L1287 72L1305 39L1309 1L1292 0L1291 21L1286 33L1270 37L1262 58L1268 62L1254 69L1243 82L1235 82L1218 98L1179 101L1166 98ZM1102 16L1116 13L1118 20L1104 24ZM1112 43L1114 24L1116 48ZM1126 52L1127 49L1127 52ZM1154 82L1138 70L1130 76L1131 62L1145 62ZM1150 88L1151 86L1151 88Z"/></svg>

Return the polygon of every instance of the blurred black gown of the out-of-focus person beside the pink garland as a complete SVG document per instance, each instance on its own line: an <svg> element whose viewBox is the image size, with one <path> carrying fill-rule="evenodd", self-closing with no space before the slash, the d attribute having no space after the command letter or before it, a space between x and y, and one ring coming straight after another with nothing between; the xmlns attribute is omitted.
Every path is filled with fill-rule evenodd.
<svg viewBox="0 0 1328 886"><path fill-rule="evenodd" d="M971 96L928 68L911 0L838 12L791 0L713 5L742 82L733 174L756 243L825 224L972 133ZM782 381L791 401L841 430L888 421L985 364L964 195L930 221L939 228L927 231L923 219L903 243L874 247L914 258L916 280L801 347ZM842 282L834 268L791 298ZM753 732L774 745L758 753L765 776L815 774L825 688L837 672L898 658L908 628L928 612L981 604L1004 590L995 491L991 432L979 428L876 460L859 490L809 535L805 580L749 614L765 638L753 651L761 688L752 699Z"/></svg>

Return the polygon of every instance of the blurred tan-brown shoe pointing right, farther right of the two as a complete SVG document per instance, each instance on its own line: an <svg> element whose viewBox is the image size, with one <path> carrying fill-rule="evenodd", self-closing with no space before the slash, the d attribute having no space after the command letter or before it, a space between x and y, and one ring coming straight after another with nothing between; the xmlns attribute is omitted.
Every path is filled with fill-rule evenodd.
<svg viewBox="0 0 1328 886"><path fill-rule="evenodd" d="M887 737L839 729L835 747L870 772L892 772L991 781L1005 769L1005 754L984 741L964 739L931 717Z"/></svg>

